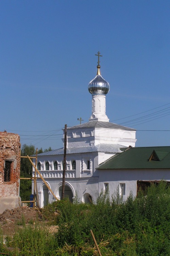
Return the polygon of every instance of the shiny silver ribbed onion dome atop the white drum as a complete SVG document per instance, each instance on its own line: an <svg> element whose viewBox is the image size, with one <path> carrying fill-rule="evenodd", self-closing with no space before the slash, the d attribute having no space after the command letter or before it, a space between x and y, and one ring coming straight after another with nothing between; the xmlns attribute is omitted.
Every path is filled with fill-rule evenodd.
<svg viewBox="0 0 170 256"><path fill-rule="evenodd" d="M88 91L91 94L107 94L110 89L109 83L101 76L100 65L97 66L97 69L96 77L88 84Z"/></svg>

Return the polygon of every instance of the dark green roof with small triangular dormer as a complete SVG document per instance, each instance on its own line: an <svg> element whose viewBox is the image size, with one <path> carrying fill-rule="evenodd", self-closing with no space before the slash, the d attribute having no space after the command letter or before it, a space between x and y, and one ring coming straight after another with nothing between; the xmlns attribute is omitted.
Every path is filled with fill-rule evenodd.
<svg viewBox="0 0 170 256"><path fill-rule="evenodd" d="M120 148L118 153L96 169L170 169L170 146ZM150 160L156 153L158 160ZM152 158L151 158L152 159Z"/></svg>

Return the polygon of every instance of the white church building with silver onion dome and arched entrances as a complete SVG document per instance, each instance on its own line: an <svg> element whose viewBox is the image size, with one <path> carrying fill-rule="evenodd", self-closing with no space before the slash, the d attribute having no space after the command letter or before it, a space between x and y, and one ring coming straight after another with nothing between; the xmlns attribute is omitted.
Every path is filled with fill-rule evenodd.
<svg viewBox="0 0 170 256"><path fill-rule="evenodd" d="M135 147L136 142L135 129L110 123L106 115L109 83L100 74L99 54L97 75L88 85L92 95L89 122L67 128L65 196L71 201L75 196L82 202L89 202L91 198L95 201L101 188L105 189L107 185L104 178L100 178L102 185L99 186L101 170L96 168L121 152L120 148ZM38 154L37 158L37 169L58 199L62 195L63 158L64 148ZM40 207L55 200L41 179L37 179L37 188Z"/></svg>

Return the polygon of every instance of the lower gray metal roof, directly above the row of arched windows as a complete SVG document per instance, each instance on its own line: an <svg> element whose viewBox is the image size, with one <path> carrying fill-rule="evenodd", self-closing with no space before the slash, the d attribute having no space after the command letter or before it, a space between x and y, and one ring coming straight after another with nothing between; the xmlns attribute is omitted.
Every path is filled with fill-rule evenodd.
<svg viewBox="0 0 170 256"><path fill-rule="evenodd" d="M87 146L87 147L71 147L67 148L67 154L76 154L76 153L88 153L88 152L108 152L108 153L118 153L119 148L123 147L119 144L99 144L96 146ZM51 156L51 155L63 155L64 148L58 148L56 150L51 150L48 152L40 153L38 156Z"/></svg>

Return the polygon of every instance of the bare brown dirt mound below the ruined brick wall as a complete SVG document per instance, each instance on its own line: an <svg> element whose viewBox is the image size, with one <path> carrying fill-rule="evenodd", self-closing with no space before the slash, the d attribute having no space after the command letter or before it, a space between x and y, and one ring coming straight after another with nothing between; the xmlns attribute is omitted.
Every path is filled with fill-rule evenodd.
<svg viewBox="0 0 170 256"><path fill-rule="evenodd" d="M6 209L0 214L0 229L3 235L13 235L23 223L41 222L42 215L39 211L29 207L18 207L14 210Z"/></svg>

